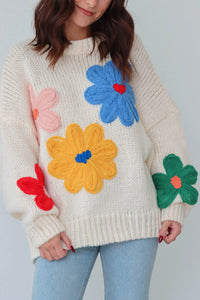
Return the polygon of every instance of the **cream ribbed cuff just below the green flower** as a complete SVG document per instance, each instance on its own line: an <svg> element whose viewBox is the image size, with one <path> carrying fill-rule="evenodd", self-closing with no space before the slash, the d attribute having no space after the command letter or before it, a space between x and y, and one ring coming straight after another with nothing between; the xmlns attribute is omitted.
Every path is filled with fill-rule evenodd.
<svg viewBox="0 0 200 300"><path fill-rule="evenodd" d="M161 209L161 222L165 220L177 221L183 228L184 220L190 212L191 206L184 203L173 203Z"/></svg>

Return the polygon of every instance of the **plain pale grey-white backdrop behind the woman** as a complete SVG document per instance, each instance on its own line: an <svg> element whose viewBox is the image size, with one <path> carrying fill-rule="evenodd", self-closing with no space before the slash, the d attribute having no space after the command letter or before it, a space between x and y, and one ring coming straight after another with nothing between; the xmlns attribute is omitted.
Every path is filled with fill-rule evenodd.
<svg viewBox="0 0 200 300"><path fill-rule="evenodd" d="M37 3L0 0L0 69L8 47L33 35ZM129 0L127 7L163 84L180 108L193 164L200 171L200 2ZM28 243L20 222L6 213L0 200L0 299L31 300L33 265ZM199 299L199 236L198 202L175 242L159 245L149 300ZM104 299L100 256L84 295L84 300L94 298Z"/></svg>

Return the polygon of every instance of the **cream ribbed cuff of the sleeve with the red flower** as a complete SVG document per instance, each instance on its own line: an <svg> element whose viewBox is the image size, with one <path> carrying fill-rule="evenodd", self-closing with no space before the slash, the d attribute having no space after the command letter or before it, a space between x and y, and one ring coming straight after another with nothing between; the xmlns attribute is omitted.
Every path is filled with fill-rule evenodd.
<svg viewBox="0 0 200 300"><path fill-rule="evenodd" d="M55 215L43 215L37 219L27 232L36 247L40 247L58 233L65 231L65 226Z"/></svg>

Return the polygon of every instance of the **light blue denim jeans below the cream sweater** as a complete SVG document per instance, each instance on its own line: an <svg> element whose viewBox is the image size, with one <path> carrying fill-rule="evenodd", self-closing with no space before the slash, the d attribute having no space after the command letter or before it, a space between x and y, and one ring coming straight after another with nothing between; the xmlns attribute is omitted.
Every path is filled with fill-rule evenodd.
<svg viewBox="0 0 200 300"><path fill-rule="evenodd" d="M81 300L100 252L105 300L148 300L158 238L68 250L65 257L35 262L32 300Z"/></svg>

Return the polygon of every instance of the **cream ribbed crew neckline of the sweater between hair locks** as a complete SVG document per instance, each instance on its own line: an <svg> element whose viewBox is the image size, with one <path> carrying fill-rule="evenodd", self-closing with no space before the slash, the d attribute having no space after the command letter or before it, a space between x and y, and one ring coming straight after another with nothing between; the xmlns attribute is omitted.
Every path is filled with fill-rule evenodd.
<svg viewBox="0 0 200 300"><path fill-rule="evenodd" d="M95 41L95 48L97 48L98 42L99 40ZM89 54L93 49L93 38L91 36L81 40L70 40L70 43L64 50L64 55Z"/></svg>

